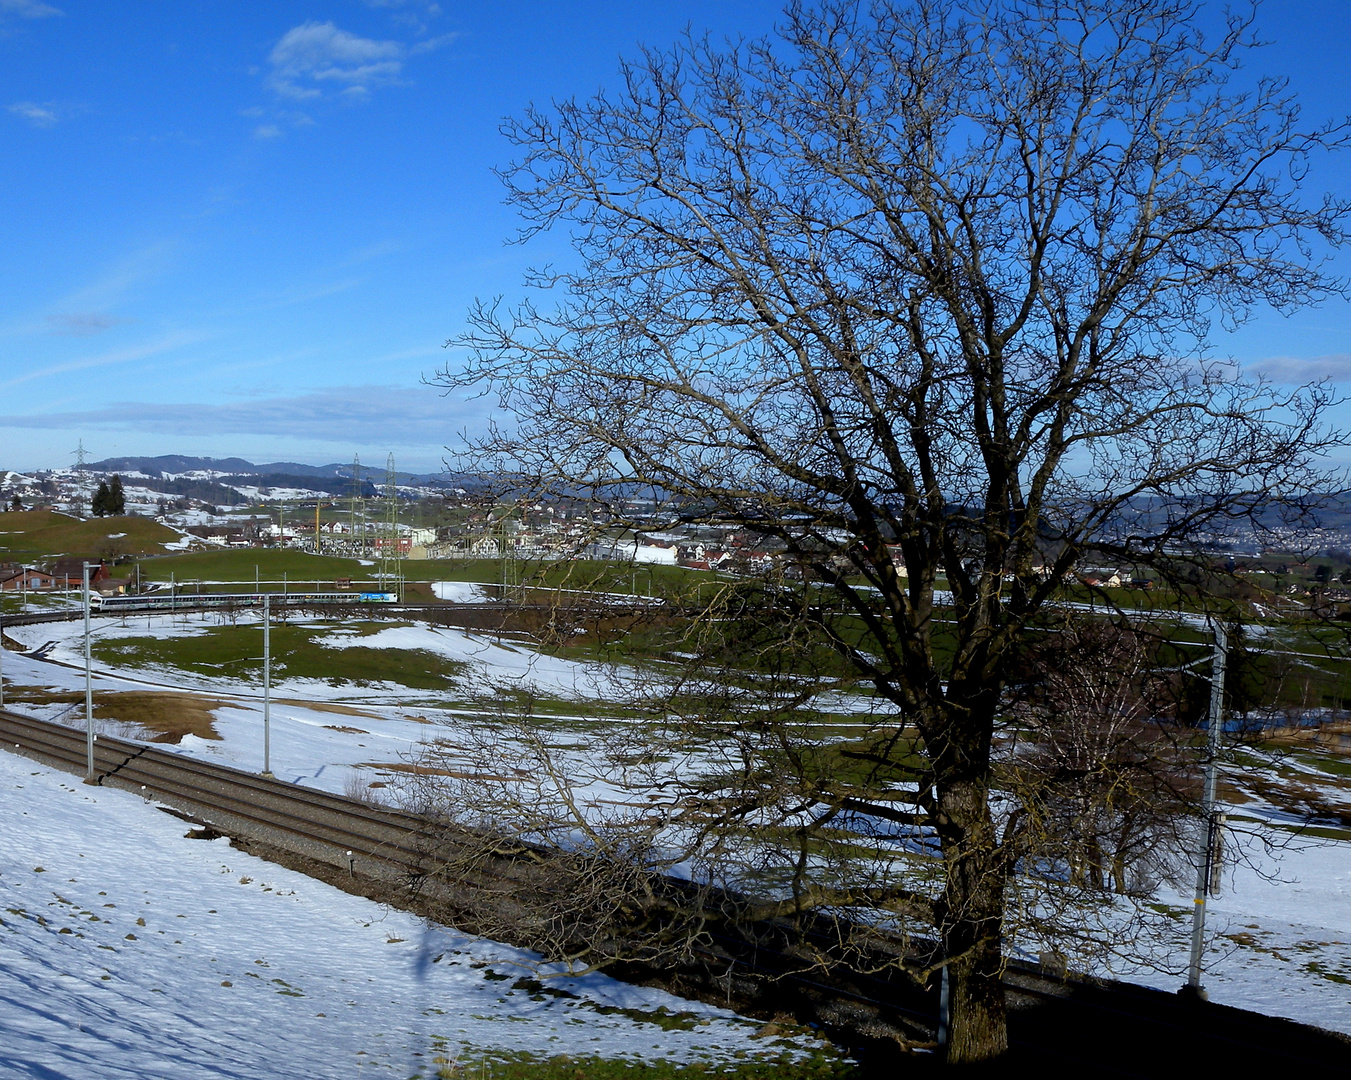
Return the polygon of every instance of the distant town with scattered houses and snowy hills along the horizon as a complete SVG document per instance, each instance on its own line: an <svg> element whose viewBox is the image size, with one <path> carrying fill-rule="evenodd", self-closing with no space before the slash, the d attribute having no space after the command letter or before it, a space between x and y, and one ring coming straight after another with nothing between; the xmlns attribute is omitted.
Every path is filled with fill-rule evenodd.
<svg viewBox="0 0 1351 1080"><path fill-rule="evenodd" d="M138 516L178 534L166 553L218 549L290 549L378 561L401 560L617 560L724 573L762 573L784 560L782 546L744 529L671 527L640 500L630 520L651 511L650 531L611 529L585 500L496 501L482 487L450 473L399 472L359 460L330 465L182 456L108 458L30 473L0 470L0 507L7 512L50 510L72 518ZM1274 527L1260 541L1251 530L1205 538L1217 565L1251 576L1256 592L1286 602L1347 606L1351 616L1351 515L1329 514L1331 527ZM109 533L97 551L109 566L128 554ZM896 564L904 573L897 551ZM792 568L784 568L792 570ZM97 573L104 591L124 588L109 570ZM78 560L41 566L0 565L0 591L70 588ZM1131 566L1086 566L1078 584L1094 589L1150 589L1152 580ZM1074 584L1074 583L1069 583ZM1248 597L1254 599L1254 597Z"/></svg>

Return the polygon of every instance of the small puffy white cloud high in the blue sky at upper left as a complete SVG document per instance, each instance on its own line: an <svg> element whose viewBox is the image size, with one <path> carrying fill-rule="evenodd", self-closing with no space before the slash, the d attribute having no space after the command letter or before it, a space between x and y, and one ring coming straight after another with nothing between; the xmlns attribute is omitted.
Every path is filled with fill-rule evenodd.
<svg viewBox="0 0 1351 1080"><path fill-rule="evenodd" d="M358 38L332 23L301 23L273 46L267 84L296 100L322 97L330 87L365 92L396 81L405 53L399 42Z"/></svg>

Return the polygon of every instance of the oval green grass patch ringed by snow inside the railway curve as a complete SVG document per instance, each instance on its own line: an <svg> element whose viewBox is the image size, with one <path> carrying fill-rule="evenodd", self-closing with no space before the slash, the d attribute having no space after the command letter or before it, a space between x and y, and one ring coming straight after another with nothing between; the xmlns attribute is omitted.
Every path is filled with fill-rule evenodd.
<svg viewBox="0 0 1351 1080"><path fill-rule="evenodd" d="M357 638L408 623L346 623L343 631ZM319 643L331 637L331 626L274 623L272 627L272 676L315 679L331 687L366 687L396 683L412 689L449 691L465 670L459 661L422 649L343 649ZM212 626L193 637L132 637L100 641L95 656L126 668L165 666L207 676L242 680L262 677L262 627Z"/></svg>

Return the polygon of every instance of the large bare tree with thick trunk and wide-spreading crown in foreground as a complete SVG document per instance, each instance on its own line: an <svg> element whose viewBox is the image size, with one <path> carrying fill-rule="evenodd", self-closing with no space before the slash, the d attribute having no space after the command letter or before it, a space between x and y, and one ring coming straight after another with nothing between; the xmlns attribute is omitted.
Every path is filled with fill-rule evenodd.
<svg viewBox="0 0 1351 1080"><path fill-rule="evenodd" d="M1344 128L1231 89L1250 20L1208 41L1197 14L828 0L646 51L507 126L523 238L567 228L576 266L478 305L440 377L500 395L471 450L515 492L635 526L644 492L830 593L805 616L878 730L919 733L952 1061L1006 1046L992 742L1027 629L1088 557L1183 580L1271 493L1306 512L1340 443L1323 387L1243 378L1206 335L1340 291L1317 251L1347 205L1302 187ZM878 775L902 742L873 741Z"/></svg>

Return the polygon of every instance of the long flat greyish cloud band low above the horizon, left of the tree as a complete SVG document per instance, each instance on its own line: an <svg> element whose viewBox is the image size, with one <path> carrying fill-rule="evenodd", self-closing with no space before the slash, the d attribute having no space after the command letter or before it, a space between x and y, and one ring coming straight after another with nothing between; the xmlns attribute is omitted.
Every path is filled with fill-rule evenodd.
<svg viewBox="0 0 1351 1080"><path fill-rule="evenodd" d="M270 435L323 442L442 446L463 415L428 387L332 387L228 404L119 401L82 412L0 416L0 426L141 434Z"/></svg>

